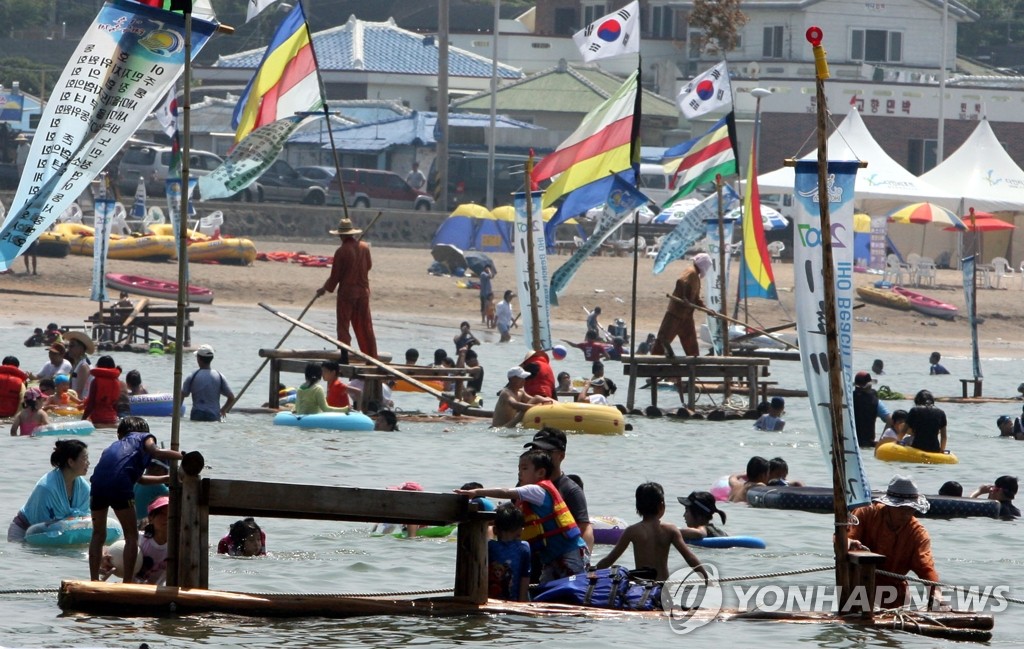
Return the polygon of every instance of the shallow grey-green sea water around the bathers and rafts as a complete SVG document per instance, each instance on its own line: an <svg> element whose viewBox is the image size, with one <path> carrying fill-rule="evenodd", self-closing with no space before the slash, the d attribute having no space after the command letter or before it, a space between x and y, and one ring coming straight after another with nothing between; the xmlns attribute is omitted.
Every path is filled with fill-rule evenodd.
<svg viewBox="0 0 1024 649"><path fill-rule="evenodd" d="M310 312L307 321L333 331L327 311ZM241 324L244 323L244 324ZM211 343L217 349L214 366L222 371L239 390L259 365L260 347L271 347L287 324L261 309L203 307L201 334L195 344ZM30 328L31 329L31 328ZM15 353L23 367L36 370L45 361L41 348L26 349L25 327L0 328L0 348ZM377 322L380 348L400 357L407 347L419 348L428 360L435 347L452 347L453 329L422 327L413 322ZM483 341L480 358L486 369L484 397L504 384L505 370L522 359L519 340L496 344L497 336L478 332ZM287 347L318 349L318 339L296 331ZM955 355L961 352L962 355ZM450 351L451 353L451 351ZM858 367L867 367L877 353L858 353ZM925 354L887 352L887 375L880 383L904 394L929 388L936 395L959 392L959 377L970 372L967 349L949 350L944 363L952 375L929 377ZM138 369L151 391L170 391L173 358L116 353L125 370ZM1020 381L1018 362L1010 358L985 358L985 390L1013 395ZM184 371L195 360L185 357ZM590 363L577 350L569 358L554 361L557 371L573 376L589 373ZM773 361L773 380L784 387L803 386L797 362ZM617 363L607 363L607 375L620 386L615 395L626 401L627 381ZM300 377L291 377L291 385ZM267 378L262 375L243 397L243 407L258 406L266 399ZM720 395L712 395L720 400ZM662 392L659 402L678 402L673 392ZM707 397L702 403L708 404ZM959 456L956 466L890 465L865 459L872 486L884 487L894 473L911 475L926 492L935 492L945 480L957 480L970 491L996 476L1020 471L1024 445L995 437L995 419L1016 416L1017 403L976 405L946 404L950 448ZM640 393L637 404L647 404ZM411 393L397 393L401 409L429 409L433 400ZM892 404L891 404L892 405ZM908 407L909 402L896 404ZM682 523L683 508L676 502L694 489L707 489L720 476L741 472L753 455L782 456L791 477L808 484L829 483L828 467L817 442L807 399L786 399L786 429L782 433L754 431L751 422L679 422L665 419L629 418L634 430L623 436L573 435L564 468L586 481L592 515L614 515L629 521L634 514L633 491L646 480L660 482L666 489L666 519ZM151 425L159 440L170 442L170 420L154 419ZM515 483L516 458L531 433L522 430L489 430L484 423L408 423L393 433L342 433L300 431L273 427L268 415L231 414L217 424L181 427L181 447L201 450L207 460L204 475L292 483L385 487L415 480L429 490L445 491L469 480L494 486ZM881 427L879 430L881 434ZM114 439L113 431L97 431L86 438L93 461ZM32 485L48 468L52 439L0 437L0 512L9 520L24 504ZM804 512L756 510L724 505L726 528L734 534L763 537L768 548L752 550L696 549L702 561L714 563L722 575L745 575L826 565L831 557L829 516ZM211 521L211 545L226 533L231 519ZM213 588L280 593L367 593L450 588L455 574L455 544L450 540L375 538L369 525L327 521L279 521L261 519L267 533L269 556L262 559L210 558ZM1012 588L1011 595L1024 597L1021 566L1020 523L989 519L952 521L926 520L943 581L961 585ZM596 557L610 548L597 548ZM623 563L632 562L630 553ZM673 568L684 564L678 555ZM211 645L225 647L392 647L398 644L430 646L534 645L553 641L564 647L612 645L662 646L681 641L664 620L587 620L577 618L534 619L517 616L415 618L370 617L347 620L324 618L265 619L237 616L188 616L168 619L63 615L53 590L61 578L87 578L84 549L42 550L0 543L0 646L4 647L154 647ZM775 579L778 585L825 585L829 572ZM995 616L993 644L1024 643L1024 607L1011 604ZM827 647L934 647L942 641L895 632L864 632L857 628L769 622L714 622L686 637L696 646L767 647L811 645Z"/></svg>

